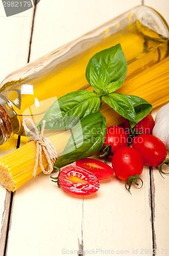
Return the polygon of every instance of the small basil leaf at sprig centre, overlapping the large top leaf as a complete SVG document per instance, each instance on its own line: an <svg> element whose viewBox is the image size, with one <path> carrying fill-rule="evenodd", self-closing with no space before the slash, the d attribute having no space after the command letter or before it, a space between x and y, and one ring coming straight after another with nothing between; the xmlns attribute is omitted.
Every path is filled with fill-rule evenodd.
<svg viewBox="0 0 169 256"><path fill-rule="evenodd" d="M92 59L90 68L90 84L93 89L97 93L102 94L104 90L103 88L106 87L109 83L110 76L107 70L102 67L95 59Z"/></svg>

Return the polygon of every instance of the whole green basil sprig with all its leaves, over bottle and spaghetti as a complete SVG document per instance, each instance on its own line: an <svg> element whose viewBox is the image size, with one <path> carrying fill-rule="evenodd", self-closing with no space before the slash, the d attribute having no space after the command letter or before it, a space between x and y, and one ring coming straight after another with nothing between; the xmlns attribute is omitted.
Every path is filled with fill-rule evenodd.
<svg viewBox="0 0 169 256"><path fill-rule="evenodd" d="M55 168L92 156L102 148L106 122L99 112L101 100L127 118L131 127L149 114L152 105L146 100L115 92L122 86L126 74L127 61L121 45L105 49L89 60L86 69L86 78L94 92L71 92L50 106L38 123L38 129L41 129L43 120L46 129L74 128L62 155L55 162Z"/></svg>

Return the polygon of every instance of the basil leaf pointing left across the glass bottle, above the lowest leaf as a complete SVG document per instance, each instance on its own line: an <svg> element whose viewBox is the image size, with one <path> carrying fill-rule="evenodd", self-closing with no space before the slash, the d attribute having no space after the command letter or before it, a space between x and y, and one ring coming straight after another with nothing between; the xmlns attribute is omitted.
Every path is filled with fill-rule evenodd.
<svg viewBox="0 0 169 256"><path fill-rule="evenodd" d="M79 119L98 112L99 108L100 98L95 93L87 90L71 92L54 101L37 127L41 129L46 120L45 129L71 129Z"/></svg>

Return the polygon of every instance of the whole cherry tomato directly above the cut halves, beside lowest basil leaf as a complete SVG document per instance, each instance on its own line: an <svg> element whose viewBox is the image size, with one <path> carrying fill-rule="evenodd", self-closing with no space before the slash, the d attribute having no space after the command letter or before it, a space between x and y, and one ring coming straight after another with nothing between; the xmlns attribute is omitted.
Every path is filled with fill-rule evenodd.
<svg viewBox="0 0 169 256"><path fill-rule="evenodd" d="M125 130L119 125L113 125L107 128L106 137L105 137L105 145L111 145L111 152L115 153L118 148L122 146L127 146L127 134Z"/></svg>

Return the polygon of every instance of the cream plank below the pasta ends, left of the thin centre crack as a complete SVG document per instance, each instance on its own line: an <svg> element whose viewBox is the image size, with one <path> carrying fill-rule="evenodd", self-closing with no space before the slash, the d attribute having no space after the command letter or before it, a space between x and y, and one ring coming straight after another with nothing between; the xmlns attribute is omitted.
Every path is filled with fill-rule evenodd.
<svg viewBox="0 0 169 256"><path fill-rule="evenodd" d="M62 255L64 249L78 250L81 216L82 197L69 195L49 176L38 175L15 193L8 255Z"/></svg>

